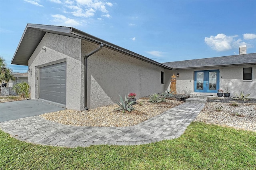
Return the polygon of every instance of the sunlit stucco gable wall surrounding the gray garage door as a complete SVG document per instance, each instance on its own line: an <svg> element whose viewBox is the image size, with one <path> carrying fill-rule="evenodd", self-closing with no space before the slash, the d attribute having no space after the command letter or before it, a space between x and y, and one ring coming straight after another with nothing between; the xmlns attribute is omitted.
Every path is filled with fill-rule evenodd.
<svg viewBox="0 0 256 170"><path fill-rule="evenodd" d="M66 61L66 108L81 110L81 59L80 39L46 33L28 61L32 70L28 76L31 98L39 98L39 68Z"/></svg>

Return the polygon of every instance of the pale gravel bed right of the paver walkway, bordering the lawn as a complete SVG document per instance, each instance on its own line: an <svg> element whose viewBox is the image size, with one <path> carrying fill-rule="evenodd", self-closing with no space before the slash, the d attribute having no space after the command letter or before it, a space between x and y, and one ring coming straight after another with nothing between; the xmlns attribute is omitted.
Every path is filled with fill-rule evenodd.
<svg viewBox="0 0 256 170"><path fill-rule="evenodd" d="M237 103L238 106L232 106ZM217 110L220 111L217 111ZM234 127L256 132L256 99L242 101L225 97L208 99L194 121Z"/></svg>

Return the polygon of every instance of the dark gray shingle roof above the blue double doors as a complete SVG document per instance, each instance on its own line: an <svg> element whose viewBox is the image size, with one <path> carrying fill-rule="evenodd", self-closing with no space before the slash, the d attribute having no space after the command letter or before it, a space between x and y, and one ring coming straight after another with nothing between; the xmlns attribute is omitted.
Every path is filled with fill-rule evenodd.
<svg viewBox="0 0 256 170"><path fill-rule="evenodd" d="M162 63L172 69L256 64L256 53Z"/></svg>

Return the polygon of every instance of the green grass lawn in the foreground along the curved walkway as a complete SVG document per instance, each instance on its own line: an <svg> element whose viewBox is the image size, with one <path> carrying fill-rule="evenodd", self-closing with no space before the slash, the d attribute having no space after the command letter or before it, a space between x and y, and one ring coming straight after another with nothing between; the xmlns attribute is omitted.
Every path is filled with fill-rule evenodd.
<svg viewBox="0 0 256 170"><path fill-rule="evenodd" d="M0 169L256 169L256 133L192 122L175 140L60 148L20 142L0 130Z"/></svg>

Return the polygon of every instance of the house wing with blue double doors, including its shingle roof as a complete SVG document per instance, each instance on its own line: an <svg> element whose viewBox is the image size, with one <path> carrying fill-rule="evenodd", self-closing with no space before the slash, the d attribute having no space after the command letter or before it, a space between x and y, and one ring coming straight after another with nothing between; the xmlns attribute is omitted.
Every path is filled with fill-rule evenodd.
<svg viewBox="0 0 256 170"><path fill-rule="evenodd" d="M244 48L244 47L243 47ZM241 50L241 49L240 49ZM214 95L228 87L230 96L244 91L256 98L256 53L162 63L177 77L177 93Z"/></svg>

